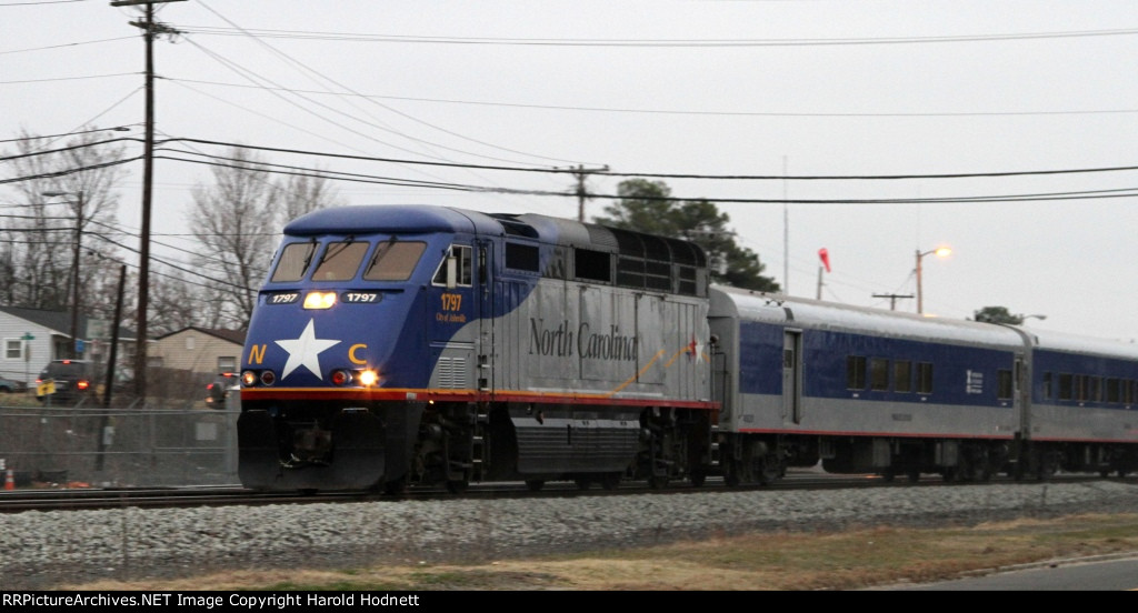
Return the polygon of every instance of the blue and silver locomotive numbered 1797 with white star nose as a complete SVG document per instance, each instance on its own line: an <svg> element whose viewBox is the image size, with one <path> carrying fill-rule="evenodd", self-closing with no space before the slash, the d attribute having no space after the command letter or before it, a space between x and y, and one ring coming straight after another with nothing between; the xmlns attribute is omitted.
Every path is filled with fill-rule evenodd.
<svg viewBox="0 0 1138 613"><path fill-rule="evenodd" d="M242 358L259 489L701 479L695 246L541 215L348 207L284 229Z"/></svg>

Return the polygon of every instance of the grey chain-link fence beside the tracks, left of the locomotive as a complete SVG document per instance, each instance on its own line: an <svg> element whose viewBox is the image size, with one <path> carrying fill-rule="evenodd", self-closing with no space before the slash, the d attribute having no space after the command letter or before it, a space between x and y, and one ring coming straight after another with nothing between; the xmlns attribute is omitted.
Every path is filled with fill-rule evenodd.
<svg viewBox="0 0 1138 613"><path fill-rule="evenodd" d="M2 477L13 471L16 488L239 482L236 394L224 409L185 403L89 408L5 400L0 397L0 470Z"/></svg>

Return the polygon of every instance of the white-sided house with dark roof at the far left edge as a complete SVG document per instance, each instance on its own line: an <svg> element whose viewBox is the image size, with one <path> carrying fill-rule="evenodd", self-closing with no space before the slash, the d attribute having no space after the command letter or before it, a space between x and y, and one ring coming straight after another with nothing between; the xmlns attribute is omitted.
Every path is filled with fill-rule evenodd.
<svg viewBox="0 0 1138 613"><path fill-rule="evenodd" d="M110 325L106 320L80 316L76 322L76 353L72 355L72 314L66 310L44 310L0 306L0 375L31 383L52 359L75 357L106 363L110 356ZM132 364L134 332L118 329L116 362Z"/></svg>

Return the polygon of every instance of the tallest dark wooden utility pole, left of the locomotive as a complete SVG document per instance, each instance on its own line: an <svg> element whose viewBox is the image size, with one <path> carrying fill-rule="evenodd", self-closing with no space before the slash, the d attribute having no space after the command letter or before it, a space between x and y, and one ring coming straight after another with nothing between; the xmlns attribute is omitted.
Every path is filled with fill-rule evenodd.
<svg viewBox="0 0 1138 613"><path fill-rule="evenodd" d="M147 304L150 300L150 202L154 192L154 39L178 31L154 20L154 6L185 0L116 0L113 7L146 5L146 22L131 22L146 40L146 140L142 149L142 231L139 237L139 304L134 340L134 394L146 399Z"/></svg>

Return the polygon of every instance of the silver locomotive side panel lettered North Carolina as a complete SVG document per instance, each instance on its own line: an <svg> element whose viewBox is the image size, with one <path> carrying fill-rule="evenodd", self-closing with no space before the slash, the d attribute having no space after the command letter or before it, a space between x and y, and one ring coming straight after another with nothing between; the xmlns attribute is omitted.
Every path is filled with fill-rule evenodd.
<svg viewBox="0 0 1138 613"><path fill-rule="evenodd" d="M495 326L510 391L661 405L710 396L696 299L543 280Z"/></svg>

